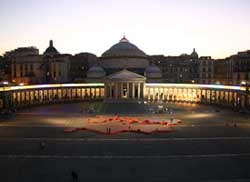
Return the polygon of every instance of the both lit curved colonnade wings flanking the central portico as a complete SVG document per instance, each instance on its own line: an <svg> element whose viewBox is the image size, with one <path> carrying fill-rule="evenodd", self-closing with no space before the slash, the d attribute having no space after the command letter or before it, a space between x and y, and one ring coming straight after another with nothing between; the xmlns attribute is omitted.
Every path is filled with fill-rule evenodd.
<svg viewBox="0 0 250 182"><path fill-rule="evenodd" d="M0 87L2 108L68 101L104 100L103 83L72 83ZM249 88L227 85L146 83L143 100L148 102L193 102L250 108ZM121 100L119 100L121 101ZM125 98L124 101L129 101ZM133 100L131 100L133 101Z"/></svg>

